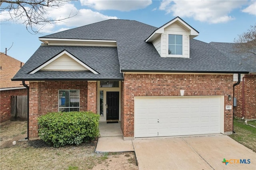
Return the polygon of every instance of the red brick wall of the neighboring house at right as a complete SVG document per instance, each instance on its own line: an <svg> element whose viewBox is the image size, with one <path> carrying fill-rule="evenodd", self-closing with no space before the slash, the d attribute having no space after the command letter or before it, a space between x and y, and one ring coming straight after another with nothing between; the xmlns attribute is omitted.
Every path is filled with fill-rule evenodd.
<svg viewBox="0 0 256 170"><path fill-rule="evenodd" d="M242 81L235 86L237 106L234 107L234 114L242 117ZM244 78L244 118L256 119L256 75Z"/></svg>

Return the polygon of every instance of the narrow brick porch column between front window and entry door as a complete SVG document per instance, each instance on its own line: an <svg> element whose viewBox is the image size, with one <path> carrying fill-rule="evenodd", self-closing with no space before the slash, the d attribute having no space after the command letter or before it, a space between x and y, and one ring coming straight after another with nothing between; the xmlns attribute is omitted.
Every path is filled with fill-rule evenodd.
<svg viewBox="0 0 256 170"><path fill-rule="evenodd" d="M97 113L97 81L88 81L87 110Z"/></svg>

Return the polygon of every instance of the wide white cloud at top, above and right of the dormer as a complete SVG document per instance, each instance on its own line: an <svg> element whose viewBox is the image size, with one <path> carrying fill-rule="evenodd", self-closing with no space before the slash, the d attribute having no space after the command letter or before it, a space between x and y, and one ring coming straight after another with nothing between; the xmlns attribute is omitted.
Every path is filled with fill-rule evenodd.
<svg viewBox="0 0 256 170"><path fill-rule="evenodd" d="M224 23L235 18L229 13L242 7L246 1L231 0L163 0L159 9L172 13L173 16L191 17L208 23Z"/></svg>

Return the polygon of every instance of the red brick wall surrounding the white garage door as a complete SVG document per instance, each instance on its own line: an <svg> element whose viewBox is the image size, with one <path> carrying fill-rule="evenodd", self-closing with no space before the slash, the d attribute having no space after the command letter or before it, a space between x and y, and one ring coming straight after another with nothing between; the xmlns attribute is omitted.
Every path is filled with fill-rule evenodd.
<svg viewBox="0 0 256 170"><path fill-rule="evenodd" d="M134 136L134 96L224 95L224 106L232 105L233 75L124 74L122 121L124 137ZM122 102L122 101L121 101ZM224 110L224 131L232 131L232 110Z"/></svg>

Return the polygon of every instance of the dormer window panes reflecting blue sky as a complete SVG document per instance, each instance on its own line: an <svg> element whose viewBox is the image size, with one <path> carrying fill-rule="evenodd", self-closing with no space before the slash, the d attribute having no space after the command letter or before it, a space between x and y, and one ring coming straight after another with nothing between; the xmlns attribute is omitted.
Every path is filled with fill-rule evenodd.
<svg viewBox="0 0 256 170"><path fill-rule="evenodd" d="M182 55L182 35L168 35L168 55Z"/></svg>

